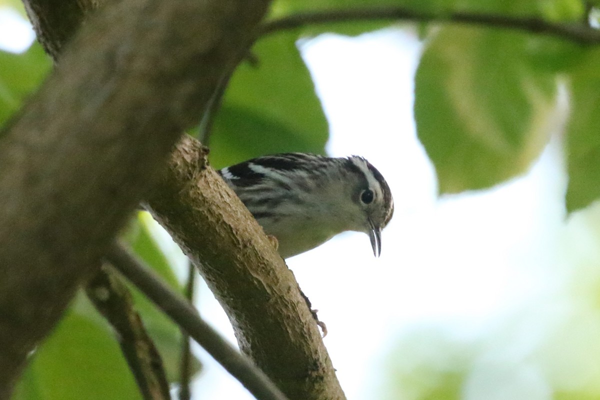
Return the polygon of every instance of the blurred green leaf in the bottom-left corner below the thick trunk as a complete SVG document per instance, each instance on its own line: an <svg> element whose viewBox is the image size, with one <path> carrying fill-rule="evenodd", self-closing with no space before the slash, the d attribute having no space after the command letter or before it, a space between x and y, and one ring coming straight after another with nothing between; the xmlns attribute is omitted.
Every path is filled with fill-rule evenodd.
<svg viewBox="0 0 600 400"><path fill-rule="evenodd" d="M141 399L112 332L67 312L38 348L13 400Z"/></svg>

